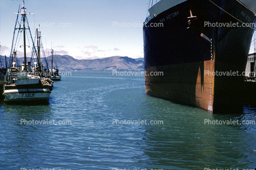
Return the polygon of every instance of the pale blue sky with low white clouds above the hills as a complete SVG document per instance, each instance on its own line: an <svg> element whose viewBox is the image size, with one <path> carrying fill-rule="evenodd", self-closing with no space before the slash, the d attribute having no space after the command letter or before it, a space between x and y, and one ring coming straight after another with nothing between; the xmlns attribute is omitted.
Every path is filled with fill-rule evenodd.
<svg viewBox="0 0 256 170"><path fill-rule="evenodd" d="M46 55L77 59L143 57L143 27L149 0L24 0L32 36L42 32ZM0 55L10 55L22 0L0 1ZM23 41L20 40L23 45ZM28 50L27 50L28 51ZM17 54L23 53L23 48ZM18 56L19 57L19 56ZM23 56L21 56L23 57Z"/></svg>

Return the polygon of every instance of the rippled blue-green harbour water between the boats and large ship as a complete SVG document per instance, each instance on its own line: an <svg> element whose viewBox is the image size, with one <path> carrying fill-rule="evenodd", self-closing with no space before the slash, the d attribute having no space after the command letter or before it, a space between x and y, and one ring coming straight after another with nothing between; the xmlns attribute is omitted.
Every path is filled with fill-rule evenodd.
<svg viewBox="0 0 256 170"><path fill-rule="evenodd" d="M48 105L0 103L0 169L256 167L256 108L211 115L146 95L142 76L73 72L54 85Z"/></svg>

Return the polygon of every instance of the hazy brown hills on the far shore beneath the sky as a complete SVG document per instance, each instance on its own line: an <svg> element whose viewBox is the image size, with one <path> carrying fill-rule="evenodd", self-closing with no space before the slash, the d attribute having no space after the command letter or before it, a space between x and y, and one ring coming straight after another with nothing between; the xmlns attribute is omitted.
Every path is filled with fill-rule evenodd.
<svg viewBox="0 0 256 170"><path fill-rule="evenodd" d="M1 58L3 58L1 56ZM28 61L31 58L27 58ZM48 67L51 67L51 57L46 58ZM137 60L129 57L107 57L99 58L94 60L78 60L71 57L70 55L54 55L53 66L58 65L58 69L62 71L137 71L144 69L144 62L142 60ZM34 63L35 61L32 61ZM18 58L18 63L23 63L23 58ZM43 65L47 65L45 58L42 58Z"/></svg>

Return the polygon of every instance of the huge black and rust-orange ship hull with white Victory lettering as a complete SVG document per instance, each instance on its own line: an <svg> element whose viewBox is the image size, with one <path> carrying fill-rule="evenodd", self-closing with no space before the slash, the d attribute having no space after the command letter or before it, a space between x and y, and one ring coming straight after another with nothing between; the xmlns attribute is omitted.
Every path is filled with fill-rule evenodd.
<svg viewBox="0 0 256 170"><path fill-rule="evenodd" d="M213 113L254 97L245 93L255 87L243 76L254 30L240 22L255 23L254 13L235 0L213 2L186 1L145 23L147 94Z"/></svg>

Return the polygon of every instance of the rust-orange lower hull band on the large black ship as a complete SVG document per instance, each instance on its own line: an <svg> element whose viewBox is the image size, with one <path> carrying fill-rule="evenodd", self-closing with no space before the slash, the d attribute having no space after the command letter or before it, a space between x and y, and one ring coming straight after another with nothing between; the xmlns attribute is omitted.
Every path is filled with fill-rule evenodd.
<svg viewBox="0 0 256 170"><path fill-rule="evenodd" d="M214 76L205 74L205 70L214 72L214 60L146 68L146 93L213 112ZM156 72L164 75L150 75Z"/></svg>

